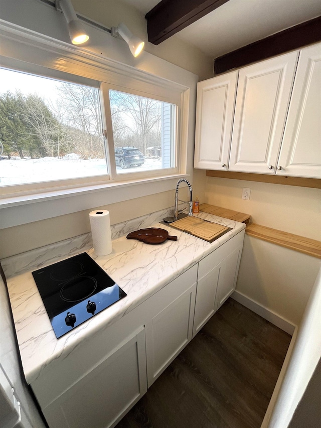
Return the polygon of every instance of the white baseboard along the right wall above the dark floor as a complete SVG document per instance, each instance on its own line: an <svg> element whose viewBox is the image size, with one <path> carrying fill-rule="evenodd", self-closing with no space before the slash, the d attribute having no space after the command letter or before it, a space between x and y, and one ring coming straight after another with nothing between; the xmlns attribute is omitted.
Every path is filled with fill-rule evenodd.
<svg viewBox="0 0 321 428"><path fill-rule="evenodd" d="M275 314L270 309L265 308L264 306L260 305L259 303L255 302L254 300L248 298L247 296L238 291L235 291L232 294L231 298L236 300L236 302L239 302L246 308L250 309L251 311L255 312L255 314L274 324L276 327L279 327L281 330L285 331L291 336L293 335L296 326L285 318L282 318L280 315Z"/></svg>

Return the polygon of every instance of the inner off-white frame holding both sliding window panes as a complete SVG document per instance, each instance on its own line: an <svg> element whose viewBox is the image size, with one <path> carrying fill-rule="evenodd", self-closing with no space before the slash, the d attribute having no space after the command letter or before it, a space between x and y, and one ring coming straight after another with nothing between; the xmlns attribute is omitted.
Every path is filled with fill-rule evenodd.
<svg viewBox="0 0 321 428"><path fill-rule="evenodd" d="M0 57L1 58L1 57ZM15 63L15 61L13 61ZM4 67L1 63L2 68L6 68L15 72L21 72L24 74L36 75L39 77L48 78L51 80L57 80L59 82L67 82L78 85L90 86L92 88L99 90L100 95L100 106L101 106L101 115L102 115L102 124L103 124L103 139L104 139L104 148L105 148L105 157L106 157L106 170L107 173L99 176L89 176L89 177L80 177L80 178L71 178L71 179L62 179L62 180L51 180L51 181L42 181L37 183L27 183L27 184L18 184L18 185L9 185L1 188L2 194L10 197L12 195L18 194L36 194L42 191L48 191L53 189L72 189L83 186L90 185L103 185L108 184L109 182L126 182L127 180L144 180L148 178L162 178L170 175L177 175L180 171L186 170L184 165L182 165L182 158L179 156L181 152L182 141L180 138L179 130L180 126L180 117L182 109L182 93L176 91L169 93L166 91L166 94L160 94L158 86L153 87L153 85L148 84L148 92L140 88L141 81L139 81L139 89L136 89L135 86L137 81L131 77L129 85L115 85L106 81L97 81L91 77L90 79L81 76L81 75L71 75L66 72L59 72L53 69L47 69L44 71L38 65L33 64L24 64L19 68L14 67ZM27 71L25 71L27 70ZM107 80L107 79L105 79ZM150 170L150 171L140 171L140 172L126 172L125 174L118 174L116 171L115 156L114 156L114 141L113 141L113 132L112 132L112 122L111 122L111 109L110 109L110 100L109 100L109 89L128 93L130 95L137 95L141 97L146 97L154 99L161 102L167 102L176 106L176 117L175 117L175 136L174 136L174 151L176 165L173 168L163 168L159 170ZM184 172L183 172L184 174Z"/></svg>

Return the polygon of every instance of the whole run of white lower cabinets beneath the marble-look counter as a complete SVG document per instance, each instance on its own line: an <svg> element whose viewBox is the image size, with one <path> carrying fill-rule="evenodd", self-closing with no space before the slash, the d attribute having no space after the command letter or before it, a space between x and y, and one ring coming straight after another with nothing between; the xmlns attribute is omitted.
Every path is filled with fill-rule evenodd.
<svg viewBox="0 0 321 428"><path fill-rule="evenodd" d="M43 370L31 386L50 428L115 426L232 294L243 239L244 230Z"/></svg>

